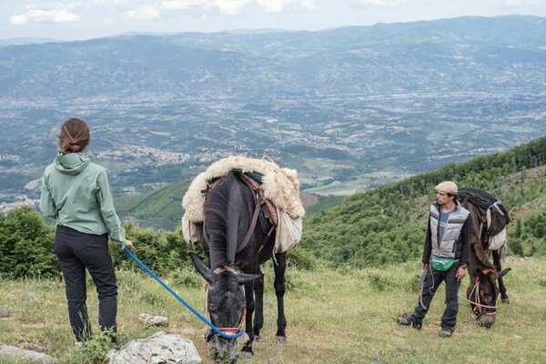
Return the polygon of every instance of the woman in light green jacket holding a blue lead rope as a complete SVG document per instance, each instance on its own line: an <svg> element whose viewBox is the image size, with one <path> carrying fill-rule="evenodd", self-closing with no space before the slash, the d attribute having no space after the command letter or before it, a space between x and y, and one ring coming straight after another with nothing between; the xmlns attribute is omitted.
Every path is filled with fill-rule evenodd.
<svg viewBox="0 0 546 364"><path fill-rule="evenodd" d="M40 209L56 219L55 252L66 282L68 317L77 342L91 336L86 268L98 293L98 323L116 342L117 285L108 239L132 248L117 217L106 169L89 161L89 128L71 118L61 128L59 151L45 168Z"/></svg>

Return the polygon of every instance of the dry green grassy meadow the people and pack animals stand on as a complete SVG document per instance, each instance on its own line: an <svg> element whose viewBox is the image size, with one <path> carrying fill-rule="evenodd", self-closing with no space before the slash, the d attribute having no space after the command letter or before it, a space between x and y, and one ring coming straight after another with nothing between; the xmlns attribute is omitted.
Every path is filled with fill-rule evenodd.
<svg viewBox="0 0 546 364"><path fill-rule="evenodd" d="M276 299L271 268L267 270L266 323L256 356L248 363L546 363L546 261L513 261L507 286L511 305L501 306L497 323L482 329L460 302L459 323L452 339L439 339L443 288L433 300L423 329L401 328L394 318L410 310L417 299L420 264L406 263L362 270L288 271L286 297L288 342L278 345ZM205 363L203 325L150 278L136 272L117 273L118 325L121 341L142 338L159 329L144 329L139 313L169 318L167 332L194 340ZM187 286L177 284L189 282ZM203 292L195 281L171 279L179 293L197 308ZM464 291L468 280L461 286ZM0 320L0 343L45 351L61 363L90 363L78 354L67 324L64 284L54 280L0 282L0 308L12 311ZM96 318L94 287L88 290L90 316ZM96 320L94 322L96 329ZM94 343L96 350L100 345ZM0 363L15 361L0 359Z"/></svg>

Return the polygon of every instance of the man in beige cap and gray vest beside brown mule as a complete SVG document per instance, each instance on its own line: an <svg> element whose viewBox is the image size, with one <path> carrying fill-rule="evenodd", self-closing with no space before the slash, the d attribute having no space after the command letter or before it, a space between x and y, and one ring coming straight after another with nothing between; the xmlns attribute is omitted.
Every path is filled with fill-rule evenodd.
<svg viewBox="0 0 546 364"><path fill-rule="evenodd" d="M430 206L429 227L422 257L424 281L420 299L410 314L397 319L399 325L420 329L430 302L446 283L446 309L441 318L440 338L450 338L459 311L460 281L467 275L470 257L470 212L457 200L458 187L446 181L436 187L437 202Z"/></svg>

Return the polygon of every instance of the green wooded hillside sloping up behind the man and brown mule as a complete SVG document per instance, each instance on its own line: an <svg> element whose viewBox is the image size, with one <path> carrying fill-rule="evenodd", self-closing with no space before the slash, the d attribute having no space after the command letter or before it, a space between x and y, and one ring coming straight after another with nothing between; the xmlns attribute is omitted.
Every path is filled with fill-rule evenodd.
<svg viewBox="0 0 546 364"><path fill-rule="evenodd" d="M301 245L334 265L364 267L419 259L434 187L449 179L460 187L489 189L509 208L512 253L544 255L545 165L546 138L540 138L347 197L306 220Z"/></svg>

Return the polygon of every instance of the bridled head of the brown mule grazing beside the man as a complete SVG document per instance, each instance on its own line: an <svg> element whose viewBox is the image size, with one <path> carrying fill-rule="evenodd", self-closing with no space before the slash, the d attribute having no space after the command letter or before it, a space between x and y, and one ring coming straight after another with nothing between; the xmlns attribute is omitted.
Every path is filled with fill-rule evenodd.
<svg viewBox="0 0 546 364"><path fill-rule="evenodd" d="M510 268L497 271L494 269L476 268L471 279L468 297L472 302L474 317L480 326L490 329L493 326L497 314L497 298L499 288L497 279L504 277Z"/></svg>

